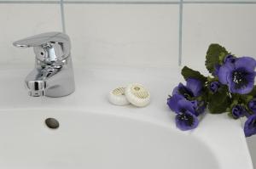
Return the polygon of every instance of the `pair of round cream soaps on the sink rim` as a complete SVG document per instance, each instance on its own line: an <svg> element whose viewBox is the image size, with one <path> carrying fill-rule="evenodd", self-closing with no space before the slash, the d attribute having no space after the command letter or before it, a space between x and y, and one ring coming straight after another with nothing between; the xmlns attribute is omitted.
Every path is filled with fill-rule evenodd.
<svg viewBox="0 0 256 169"><path fill-rule="evenodd" d="M149 104L150 93L141 84L133 83L127 87L117 87L108 94L108 100L115 105L133 104L144 107Z"/></svg>

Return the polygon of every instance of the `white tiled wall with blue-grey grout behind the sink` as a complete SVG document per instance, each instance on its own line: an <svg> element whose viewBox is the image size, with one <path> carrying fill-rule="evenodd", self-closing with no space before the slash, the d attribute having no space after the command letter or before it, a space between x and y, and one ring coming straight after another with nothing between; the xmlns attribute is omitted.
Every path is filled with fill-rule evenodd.
<svg viewBox="0 0 256 169"><path fill-rule="evenodd" d="M12 42L63 29L77 64L174 67L180 59L205 70L212 42L256 58L255 19L256 0L0 0L0 67L32 66L32 48ZM256 136L248 143L256 166Z"/></svg>

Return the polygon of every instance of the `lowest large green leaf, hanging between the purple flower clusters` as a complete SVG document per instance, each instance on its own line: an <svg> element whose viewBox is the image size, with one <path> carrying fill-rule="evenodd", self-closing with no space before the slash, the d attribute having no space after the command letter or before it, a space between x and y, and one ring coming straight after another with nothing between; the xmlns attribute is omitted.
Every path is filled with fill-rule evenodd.
<svg viewBox="0 0 256 169"><path fill-rule="evenodd" d="M231 104L231 99L228 92L228 87L223 86L218 89L217 93L209 94L208 109L210 113L220 114L226 112Z"/></svg>

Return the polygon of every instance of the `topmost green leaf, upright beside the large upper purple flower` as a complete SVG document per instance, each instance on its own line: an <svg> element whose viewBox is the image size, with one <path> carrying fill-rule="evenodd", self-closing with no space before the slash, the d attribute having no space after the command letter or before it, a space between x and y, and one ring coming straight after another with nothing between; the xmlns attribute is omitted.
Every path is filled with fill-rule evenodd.
<svg viewBox="0 0 256 169"><path fill-rule="evenodd" d="M207 70L212 74L214 66L221 64L224 57L229 54L228 51L219 44L211 44L207 50L206 66Z"/></svg>

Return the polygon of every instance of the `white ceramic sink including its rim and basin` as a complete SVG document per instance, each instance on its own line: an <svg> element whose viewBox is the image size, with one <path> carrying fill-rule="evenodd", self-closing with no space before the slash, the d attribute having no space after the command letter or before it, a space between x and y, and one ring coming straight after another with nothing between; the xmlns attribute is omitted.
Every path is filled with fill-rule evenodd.
<svg viewBox="0 0 256 169"><path fill-rule="evenodd" d="M30 69L0 70L1 169L253 169L240 121L205 115L193 131L175 127L166 98L179 70L74 67L76 92L59 99L27 95ZM147 107L108 103L129 82L148 87Z"/></svg>

